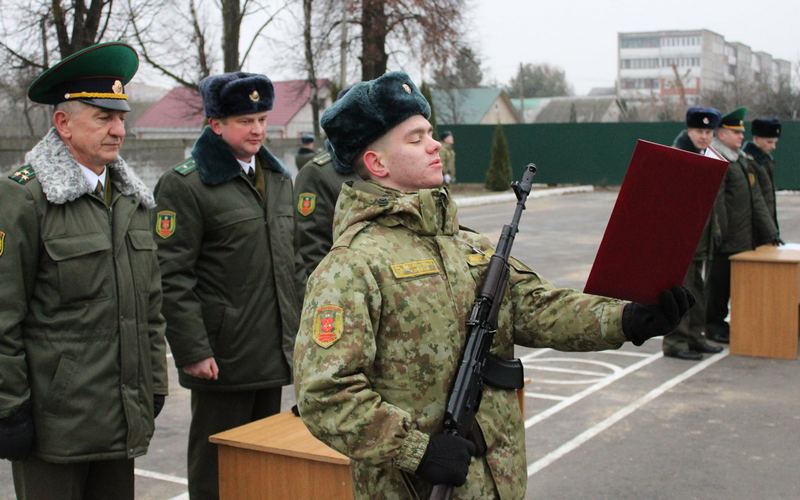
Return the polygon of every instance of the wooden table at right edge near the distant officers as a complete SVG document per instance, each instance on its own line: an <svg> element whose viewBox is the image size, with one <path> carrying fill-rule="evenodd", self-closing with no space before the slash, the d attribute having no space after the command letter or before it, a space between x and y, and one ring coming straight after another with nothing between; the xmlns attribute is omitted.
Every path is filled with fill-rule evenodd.
<svg viewBox="0 0 800 500"><path fill-rule="evenodd" d="M800 247L731 256L731 353L797 359Z"/></svg>

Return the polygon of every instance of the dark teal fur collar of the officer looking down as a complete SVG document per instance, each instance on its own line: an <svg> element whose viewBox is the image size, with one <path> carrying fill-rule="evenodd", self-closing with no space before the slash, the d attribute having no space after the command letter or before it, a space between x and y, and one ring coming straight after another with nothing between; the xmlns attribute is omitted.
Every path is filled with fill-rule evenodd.
<svg viewBox="0 0 800 500"><path fill-rule="evenodd" d="M256 156L261 160L262 167L289 177L289 172L283 168L280 160L275 158L264 146L261 146ZM208 126L203 129L203 133L194 143L192 158L197 164L197 173L200 174L200 180L204 184L222 184L235 179L242 171L230 146Z"/></svg>

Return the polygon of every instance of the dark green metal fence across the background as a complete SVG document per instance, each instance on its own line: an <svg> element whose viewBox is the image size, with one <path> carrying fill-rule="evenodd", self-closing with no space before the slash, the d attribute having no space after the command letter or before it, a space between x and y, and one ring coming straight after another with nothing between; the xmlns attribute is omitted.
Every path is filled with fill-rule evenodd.
<svg viewBox="0 0 800 500"><path fill-rule="evenodd" d="M683 123L546 123L504 125L514 177L533 162L536 182L615 185L622 183L637 139L672 144ZM441 125L455 136L456 178L483 182L494 125ZM748 137L749 139L749 137ZM800 189L800 122L783 124L775 152L778 189Z"/></svg>

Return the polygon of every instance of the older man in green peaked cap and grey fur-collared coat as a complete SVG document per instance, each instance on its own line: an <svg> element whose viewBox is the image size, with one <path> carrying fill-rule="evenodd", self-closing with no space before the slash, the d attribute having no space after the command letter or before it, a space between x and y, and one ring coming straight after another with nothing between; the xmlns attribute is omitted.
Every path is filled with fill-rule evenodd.
<svg viewBox="0 0 800 500"><path fill-rule="evenodd" d="M167 394L155 206L119 156L120 42L44 71L53 128L0 181L0 457L22 499L134 497Z"/></svg>

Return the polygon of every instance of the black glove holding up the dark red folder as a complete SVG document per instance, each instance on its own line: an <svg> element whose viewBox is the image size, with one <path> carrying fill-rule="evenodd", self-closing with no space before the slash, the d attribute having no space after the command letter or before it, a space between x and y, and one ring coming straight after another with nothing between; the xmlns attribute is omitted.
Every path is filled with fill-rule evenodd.
<svg viewBox="0 0 800 500"><path fill-rule="evenodd" d="M622 310L622 332L635 345L642 345L674 330L694 302L694 296L682 286L658 294L657 305L631 302Z"/></svg>

